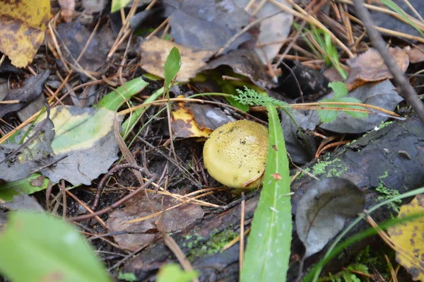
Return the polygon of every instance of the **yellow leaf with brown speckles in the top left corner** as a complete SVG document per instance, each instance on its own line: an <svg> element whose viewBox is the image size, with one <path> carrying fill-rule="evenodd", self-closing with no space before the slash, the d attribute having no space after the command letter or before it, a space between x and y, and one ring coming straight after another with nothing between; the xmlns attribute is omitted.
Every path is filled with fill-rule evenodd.
<svg viewBox="0 0 424 282"><path fill-rule="evenodd" d="M0 51L14 66L28 66L45 37L49 0L0 0Z"/></svg>

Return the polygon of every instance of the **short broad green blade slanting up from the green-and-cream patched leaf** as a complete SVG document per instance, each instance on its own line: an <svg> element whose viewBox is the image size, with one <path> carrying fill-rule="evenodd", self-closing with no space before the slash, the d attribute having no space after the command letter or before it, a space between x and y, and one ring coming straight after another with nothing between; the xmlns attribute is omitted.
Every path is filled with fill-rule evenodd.
<svg viewBox="0 0 424 282"><path fill-rule="evenodd" d="M128 81L123 86L105 95L97 107L105 107L107 110L116 111L117 107L122 105L122 102L140 93L148 84L148 82L143 80L143 76L134 78L132 81Z"/></svg>

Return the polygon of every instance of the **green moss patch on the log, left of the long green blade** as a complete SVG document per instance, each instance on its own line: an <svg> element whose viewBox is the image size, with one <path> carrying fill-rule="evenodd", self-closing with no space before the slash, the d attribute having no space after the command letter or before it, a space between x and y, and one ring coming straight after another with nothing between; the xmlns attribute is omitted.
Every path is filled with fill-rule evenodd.
<svg viewBox="0 0 424 282"><path fill-rule="evenodd" d="M190 248L190 252L187 258L192 262L194 259L203 257L205 254L216 254L238 235L233 230L223 230L219 233L213 232L206 242L200 242L202 238L198 235L189 235L187 236L187 240L190 240L190 242L187 243L187 247Z"/></svg>

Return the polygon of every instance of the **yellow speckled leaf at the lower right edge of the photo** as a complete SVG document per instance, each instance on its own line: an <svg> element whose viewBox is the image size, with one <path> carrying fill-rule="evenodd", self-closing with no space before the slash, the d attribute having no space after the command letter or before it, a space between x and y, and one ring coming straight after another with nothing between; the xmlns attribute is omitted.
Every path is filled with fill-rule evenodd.
<svg viewBox="0 0 424 282"><path fill-rule="evenodd" d="M424 212L424 195L417 195L409 204L401 206L398 218ZM411 274L414 281L424 281L424 217L416 218L387 229L397 245L396 262Z"/></svg>

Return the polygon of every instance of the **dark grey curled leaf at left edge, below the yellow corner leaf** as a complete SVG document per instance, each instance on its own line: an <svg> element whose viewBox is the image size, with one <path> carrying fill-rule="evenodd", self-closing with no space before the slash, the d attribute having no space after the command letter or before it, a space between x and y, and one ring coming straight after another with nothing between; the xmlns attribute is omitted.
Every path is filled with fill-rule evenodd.
<svg viewBox="0 0 424 282"><path fill-rule="evenodd" d="M47 69L36 76L23 81L20 88L8 90L4 101L18 100L18 103L13 104L0 104L0 118L4 117L9 112L16 112L28 106L30 102L36 100L42 93L45 81L49 77L50 71Z"/></svg>

